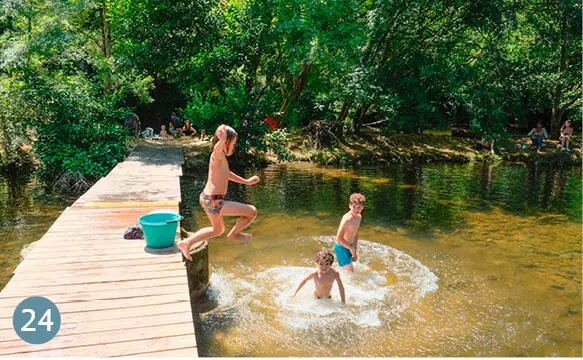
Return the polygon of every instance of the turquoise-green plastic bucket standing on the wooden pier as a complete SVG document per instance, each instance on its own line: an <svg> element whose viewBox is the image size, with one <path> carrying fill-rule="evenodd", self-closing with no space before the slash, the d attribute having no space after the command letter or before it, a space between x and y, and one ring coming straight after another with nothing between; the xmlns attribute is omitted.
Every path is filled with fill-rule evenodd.
<svg viewBox="0 0 583 360"><path fill-rule="evenodd" d="M146 245L151 248L164 248L174 245L176 228L182 216L173 212L154 212L138 219L144 231Z"/></svg>

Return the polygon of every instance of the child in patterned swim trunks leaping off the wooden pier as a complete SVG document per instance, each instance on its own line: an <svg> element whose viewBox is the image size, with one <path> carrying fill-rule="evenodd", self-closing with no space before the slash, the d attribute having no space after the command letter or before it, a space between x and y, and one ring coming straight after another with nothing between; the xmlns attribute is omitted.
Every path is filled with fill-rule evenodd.
<svg viewBox="0 0 583 360"><path fill-rule="evenodd" d="M189 261L192 261L190 256L192 245L205 239L217 237L225 232L223 216L239 216L239 220L227 235L229 239L241 242L251 240L251 234L245 234L241 231L255 219L257 209L253 205L225 200L229 181L245 185L254 185L259 182L258 176L244 179L229 169L227 156L231 156L235 151L237 138L237 132L226 125L219 126L213 137L208 180L199 196L200 205L212 226L198 230L177 244L180 251L182 251L182 255Z"/></svg>

